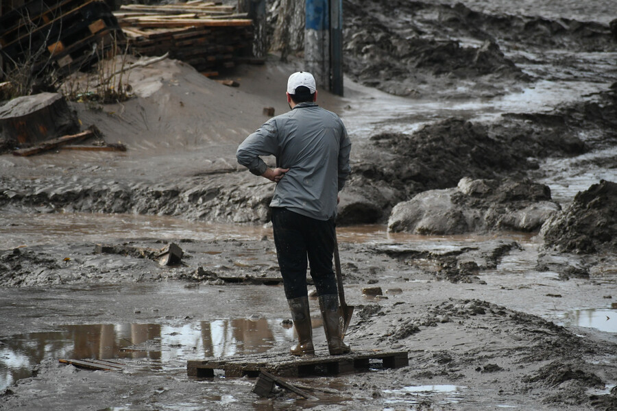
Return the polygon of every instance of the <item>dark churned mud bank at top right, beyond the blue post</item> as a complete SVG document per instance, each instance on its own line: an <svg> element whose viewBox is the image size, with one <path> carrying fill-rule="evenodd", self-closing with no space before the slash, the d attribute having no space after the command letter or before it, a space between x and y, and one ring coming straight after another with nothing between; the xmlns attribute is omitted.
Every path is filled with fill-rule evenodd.
<svg viewBox="0 0 617 411"><path fill-rule="evenodd" d="M350 14L343 28L346 72L396 95L435 95L435 82L449 88L440 94L445 98L499 95L535 77L526 73L526 64L561 65L547 50L615 50L612 29L603 23L485 14L463 3L350 0L345 5ZM399 17L393 22L394 14Z"/></svg>

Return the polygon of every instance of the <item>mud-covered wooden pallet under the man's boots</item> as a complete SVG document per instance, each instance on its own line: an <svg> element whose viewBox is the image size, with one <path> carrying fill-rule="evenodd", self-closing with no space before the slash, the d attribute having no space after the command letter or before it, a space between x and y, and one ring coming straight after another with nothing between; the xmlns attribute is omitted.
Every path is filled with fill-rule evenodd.
<svg viewBox="0 0 617 411"><path fill-rule="evenodd" d="M385 369L409 365L407 351L352 351L343 356L330 356L325 351L314 357L293 357L289 353L263 353L243 358L190 360L186 364L189 377L214 377L222 370L226 377L258 377L261 371L280 377L338 375L366 371L371 362Z"/></svg>

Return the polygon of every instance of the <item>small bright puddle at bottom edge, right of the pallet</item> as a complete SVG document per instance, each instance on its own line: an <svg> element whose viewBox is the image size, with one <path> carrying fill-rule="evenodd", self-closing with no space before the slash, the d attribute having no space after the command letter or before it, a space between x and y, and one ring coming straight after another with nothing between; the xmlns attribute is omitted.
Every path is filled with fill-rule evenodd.
<svg viewBox="0 0 617 411"><path fill-rule="evenodd" d="M431 397L433 403L439 405L459 403L464 397L463 391L465 388L454 385L405 386L398 390L384 390L384 402L387 404L418 404L424 398Z"/></svg>

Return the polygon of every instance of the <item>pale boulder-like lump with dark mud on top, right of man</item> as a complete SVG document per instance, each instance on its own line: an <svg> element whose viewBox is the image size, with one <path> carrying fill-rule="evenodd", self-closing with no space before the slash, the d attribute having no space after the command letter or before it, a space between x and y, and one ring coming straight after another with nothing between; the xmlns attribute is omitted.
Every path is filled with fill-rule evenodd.
<svg viewBox="0 0 617 411"><path fill-rule="evenodd" d="M496 230L531 232L558 211L551 189L530 180L472 180L457 188L429 190L398 203L388 230L416 234L483 233Z"/></svg>

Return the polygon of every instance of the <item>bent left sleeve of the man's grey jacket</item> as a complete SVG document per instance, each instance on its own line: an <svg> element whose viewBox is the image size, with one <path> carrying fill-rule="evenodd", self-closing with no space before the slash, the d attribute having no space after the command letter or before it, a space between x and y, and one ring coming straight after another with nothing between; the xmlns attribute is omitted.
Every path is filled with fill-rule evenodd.
<svg viewBox="0 0 617 411"><path fill-rule="evenodd" d="M271 119L263 123L256 132L250 134L238 147L236 158L254 175L262 175L268 166L260 155L277 155L276 121Z"/></svg>

